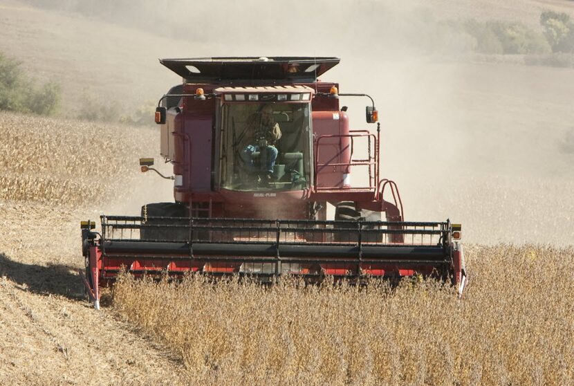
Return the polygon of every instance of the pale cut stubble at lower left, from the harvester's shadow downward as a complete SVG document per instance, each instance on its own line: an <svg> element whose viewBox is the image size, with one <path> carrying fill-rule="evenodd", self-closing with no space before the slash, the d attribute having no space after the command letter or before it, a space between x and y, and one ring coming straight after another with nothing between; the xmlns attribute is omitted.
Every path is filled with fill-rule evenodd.
<svg viewBox="0 0 574 386"><path fill-rule="evenodd" d="M12 259L0 255L3 385L185 383L180 361L167 349L118 322L112 313L94 313L77 297L58 295L58 284L50 284L49 277L60 286L77 288L79 277L69 269L26 267ZM21 281L30 276L47 283L38 287Z"/></svg>

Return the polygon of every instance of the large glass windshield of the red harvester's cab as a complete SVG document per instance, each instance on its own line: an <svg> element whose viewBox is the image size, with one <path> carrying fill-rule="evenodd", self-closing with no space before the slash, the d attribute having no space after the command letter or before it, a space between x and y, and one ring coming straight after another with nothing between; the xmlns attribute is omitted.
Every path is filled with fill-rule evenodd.
<svg viewBox="0 0 574 386"><path fill-rule="evenodd" d="M303 190L310 183L309 103L223 104L221 187Z"/></svg>

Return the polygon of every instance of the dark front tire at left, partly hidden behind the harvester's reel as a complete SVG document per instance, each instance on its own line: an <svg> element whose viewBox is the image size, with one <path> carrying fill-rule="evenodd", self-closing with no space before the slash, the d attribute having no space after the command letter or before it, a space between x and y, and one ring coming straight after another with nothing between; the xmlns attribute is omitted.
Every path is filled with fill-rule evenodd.
<svg viewBox="0 0 574 386"><path fill-rule="evenodd" d="M150 203L142 206L142 225L186 225L189 211L180 203ZM156 219L154 217L185 217L182 220ZM142 227L142 240L185 241L189 232L183 228Z"/></svg>

